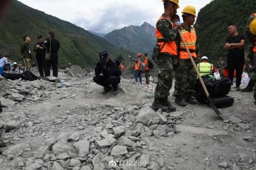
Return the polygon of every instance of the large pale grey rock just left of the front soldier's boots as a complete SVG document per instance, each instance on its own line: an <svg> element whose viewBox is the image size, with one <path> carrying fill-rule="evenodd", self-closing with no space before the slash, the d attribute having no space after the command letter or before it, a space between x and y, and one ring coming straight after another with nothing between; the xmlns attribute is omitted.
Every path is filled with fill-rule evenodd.
<svg viewBox="0 0 256 170"><path fill-rule="evenodd" d="M147 125L152 117L157 117L157 113L152 108L142 108L135 117L135 122Z"/></svg>

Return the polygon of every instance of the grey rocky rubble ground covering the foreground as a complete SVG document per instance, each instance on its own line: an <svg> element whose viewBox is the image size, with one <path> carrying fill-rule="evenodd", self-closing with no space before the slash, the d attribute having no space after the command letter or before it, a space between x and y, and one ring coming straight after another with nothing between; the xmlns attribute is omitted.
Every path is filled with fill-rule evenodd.
<svg viewBox="0 0 256 170"><path fill-rule="evenodd" d="M156 78L122 78L117 96L92 78L1 80L0 170L256 170L253 93L230 91L223 121L201 103L155 112Z"/></svg>

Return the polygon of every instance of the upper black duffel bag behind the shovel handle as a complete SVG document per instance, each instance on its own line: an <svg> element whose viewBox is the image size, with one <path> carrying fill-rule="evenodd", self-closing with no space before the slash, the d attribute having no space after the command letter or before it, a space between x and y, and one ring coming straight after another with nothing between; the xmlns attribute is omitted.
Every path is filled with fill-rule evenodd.
<svg viewBox="0 0 256 170"><path fill-rule="evenodd" d="M227 95L231 89L232 82L226 77L221 76L219 80L209 80L208 75L205 75L202 79L211 97ZM194 91L200 97L207 98L199 79L195 83Z"/></svg>

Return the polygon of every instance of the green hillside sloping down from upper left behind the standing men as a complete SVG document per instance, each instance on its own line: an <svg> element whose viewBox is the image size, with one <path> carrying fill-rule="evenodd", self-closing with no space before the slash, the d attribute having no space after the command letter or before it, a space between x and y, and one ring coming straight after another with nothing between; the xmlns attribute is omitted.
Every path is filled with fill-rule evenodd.
<svg viewBox="0 0 256 170"><path fill-rule="evenodd" d="M59 65L71 63L82 68L93 66L98 60L98 53L102 50L107 50L112 58L118 55L134 55L81 27L32 9L17 0L13 0L9 14L0 25L0 51L9 55L12 60L18 61L24 35L30 36L30 44L34 46L37 35L46 38L49 31L55 33L61 44ZM35 61L35 53L32 55Z"/></svg>

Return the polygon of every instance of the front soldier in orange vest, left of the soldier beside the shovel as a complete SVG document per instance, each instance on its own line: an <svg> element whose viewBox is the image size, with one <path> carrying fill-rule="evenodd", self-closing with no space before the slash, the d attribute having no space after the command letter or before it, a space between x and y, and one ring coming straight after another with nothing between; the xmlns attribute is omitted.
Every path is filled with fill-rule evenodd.
<svg viewBox="0 0 256 170"><path fill-rule="evenodd" d="M165 12L156 23L157 45L154 48L154 61L158 65L158 82L156 85L154 102L151 108L154 110L169 110L174 112L176 108L168 101L173 84L173 59L177 56L175 43L177 27L171 22L171 18L179 8L178 0L162 0ZM157 50L155 50L157 49Z"/></svg>

